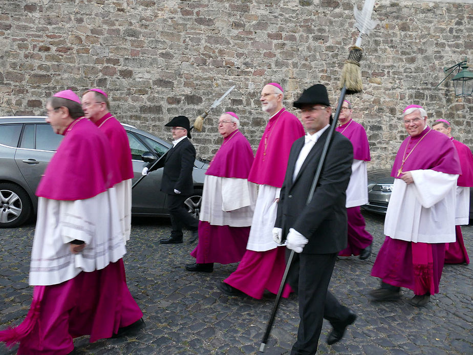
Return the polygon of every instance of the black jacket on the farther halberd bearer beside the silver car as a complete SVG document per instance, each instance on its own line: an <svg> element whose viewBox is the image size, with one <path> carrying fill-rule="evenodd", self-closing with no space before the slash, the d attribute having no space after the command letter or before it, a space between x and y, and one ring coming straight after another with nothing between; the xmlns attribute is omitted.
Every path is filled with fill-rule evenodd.
<svg viewBox="0 0 473 355"><path fill-rule="evenodd" d="M166 153L164 159L161 191L176 195L176 189L181 192L181 196L191 195L194 191L192 169L196 160L196 149L189 139L184 138L177 143L176 147Z"/></svg>

